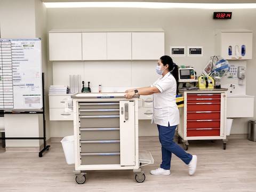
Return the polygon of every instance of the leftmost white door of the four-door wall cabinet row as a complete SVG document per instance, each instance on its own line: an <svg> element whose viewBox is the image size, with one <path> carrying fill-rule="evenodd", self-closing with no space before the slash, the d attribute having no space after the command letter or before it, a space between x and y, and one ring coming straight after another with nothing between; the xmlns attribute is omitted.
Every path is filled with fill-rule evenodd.
<svg viewBox="0 0 256 192"><path fill-rule="evenodd" d="M49 33L50 61L82 60L81 33Z"/></svg>

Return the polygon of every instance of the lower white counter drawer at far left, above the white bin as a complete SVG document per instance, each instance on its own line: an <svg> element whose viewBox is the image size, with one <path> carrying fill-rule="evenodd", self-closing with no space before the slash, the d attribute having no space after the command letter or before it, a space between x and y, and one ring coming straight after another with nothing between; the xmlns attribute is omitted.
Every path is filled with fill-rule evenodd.
<svg viewBox="0 0 256 192"><path fill-rule="evenodd" d="M65 108L50 108L50 121L73 121L73 113L64 113Z"/></svg>

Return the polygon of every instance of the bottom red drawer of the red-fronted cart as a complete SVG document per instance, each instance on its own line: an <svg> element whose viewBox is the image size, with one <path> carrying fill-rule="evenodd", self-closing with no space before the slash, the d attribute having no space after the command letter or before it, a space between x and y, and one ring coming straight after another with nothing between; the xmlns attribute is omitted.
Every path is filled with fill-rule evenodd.
<svg viewBox="0 0 256 192"><path fill-rule="evenodd" d="M187 130L187 137L197 136L220 136L220 129L209 128L209 129L190 129Z"/></svg>

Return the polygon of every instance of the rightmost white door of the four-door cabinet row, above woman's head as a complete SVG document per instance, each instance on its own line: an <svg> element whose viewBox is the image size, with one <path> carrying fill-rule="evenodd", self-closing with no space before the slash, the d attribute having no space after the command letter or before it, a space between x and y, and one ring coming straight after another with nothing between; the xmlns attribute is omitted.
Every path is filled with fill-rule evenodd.
<svg viewBox="0 0 256 192"><path fill-rule="evenodd" d="M158 60L164 55L163 32L132 33L132 59Z"/></svg>

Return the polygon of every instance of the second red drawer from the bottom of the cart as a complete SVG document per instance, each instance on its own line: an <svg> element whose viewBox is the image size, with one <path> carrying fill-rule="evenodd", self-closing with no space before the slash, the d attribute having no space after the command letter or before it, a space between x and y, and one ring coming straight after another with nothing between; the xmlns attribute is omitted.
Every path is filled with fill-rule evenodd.
<svg viewBox="0 0 256 192"><path fill-rule="evenodd" d="M187 120L187 129L220 128L220 119Z"/></svg>

